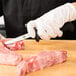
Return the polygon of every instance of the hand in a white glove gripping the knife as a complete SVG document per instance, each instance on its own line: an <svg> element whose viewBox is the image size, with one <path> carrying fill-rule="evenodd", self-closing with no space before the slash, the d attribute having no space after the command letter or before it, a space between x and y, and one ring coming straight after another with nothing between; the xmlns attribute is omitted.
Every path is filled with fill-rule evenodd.
<svg viewBox="0 0 76 76"><path fill-rule="evenodd" d="M60 28L63 27L64 23L70 22L76 19L76 9L72 3L66 3L59 6L36 20L32 20L27 23L27 30L29 35L34 38L35 30L41 39L49 40L50 38L61 37L63 32Z"/></svg>

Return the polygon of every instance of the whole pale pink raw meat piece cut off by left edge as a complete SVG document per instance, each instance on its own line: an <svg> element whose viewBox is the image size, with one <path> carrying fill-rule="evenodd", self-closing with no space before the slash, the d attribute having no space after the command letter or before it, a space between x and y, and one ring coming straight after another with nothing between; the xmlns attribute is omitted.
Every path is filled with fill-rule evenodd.
<svg viewBox="0 0 76 76"><path fill-rule="evenodd" d="M0 64L17 65L22 60L21 55L15 54L0 42Z"/></svg>

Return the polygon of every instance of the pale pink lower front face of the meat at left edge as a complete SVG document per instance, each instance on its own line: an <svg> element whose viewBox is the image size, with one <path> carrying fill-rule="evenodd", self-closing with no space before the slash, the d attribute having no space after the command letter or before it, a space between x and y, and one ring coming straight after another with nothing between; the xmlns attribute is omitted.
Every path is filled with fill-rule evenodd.
<svg viewBox="0 0 76 76"><path fill-rule="evenodd" d="M23 60L23 57L21 55L9 52L9 53L3 53L0 52L0 64L4 65L17 65Z"/></svg>

